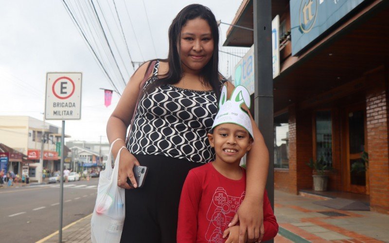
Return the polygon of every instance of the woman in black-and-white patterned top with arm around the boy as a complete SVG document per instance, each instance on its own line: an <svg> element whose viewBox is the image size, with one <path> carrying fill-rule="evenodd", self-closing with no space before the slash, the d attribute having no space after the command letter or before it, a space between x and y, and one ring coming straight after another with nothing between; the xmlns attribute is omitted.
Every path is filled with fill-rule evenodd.
<svg viewBox="0 0 389 243"><path fill-rule="evenodd" d="M177 210L182 185L188 171L209 162L214 152L207 140L222 85L229 95L233 85L218 72L219 34L211 10L199 4L183 8L169 28L169 54L157 60L153 73L140 87L148 66L143 64L131 77L107 123L112 151L122 146L118 185L125 192L125 222L122 242L176 241ZM137 100L140 96L137 107ZM132 115L129 142L125 132ZM243 242L263 235L263 195L268 152L255 122L255 142L248 155L246 197L233 220L239 220ZM131 153L130 153L131 152ZM132 168L149 168L144 187L137 187ZM261 229L260 229L261 226ZM262 232L260 232L262 231Z"/></svg>

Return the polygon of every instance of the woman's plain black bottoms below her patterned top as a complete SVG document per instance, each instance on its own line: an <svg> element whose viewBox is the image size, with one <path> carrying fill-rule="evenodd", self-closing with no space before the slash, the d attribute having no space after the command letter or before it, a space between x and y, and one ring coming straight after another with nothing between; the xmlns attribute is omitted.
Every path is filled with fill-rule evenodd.
<svg viewBox="0 0 389 243"><path fill-rule="evenodd" d="M134 155L148 173L142 188L125 190L122 243L174 243L178 205L189 170L203 165L186 159Z"/></svg>

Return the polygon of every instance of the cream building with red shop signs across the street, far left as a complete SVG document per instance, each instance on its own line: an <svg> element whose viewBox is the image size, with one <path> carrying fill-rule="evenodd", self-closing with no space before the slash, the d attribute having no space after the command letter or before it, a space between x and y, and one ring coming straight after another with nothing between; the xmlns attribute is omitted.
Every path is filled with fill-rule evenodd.
<svg viewBox="0 0 389 243"><path fill-rule="evenodd" d="M27 155L26 162L8 161L8 168L22 174L22 163L28 166L31 180L41 181L43 168L53 172L60 170L60 127L28 116L0 116L0 143ZM66 138L70 136L65 135ZM43 164L39 164L42 140ZM65 146L65 156L69 149Z"/></svg>

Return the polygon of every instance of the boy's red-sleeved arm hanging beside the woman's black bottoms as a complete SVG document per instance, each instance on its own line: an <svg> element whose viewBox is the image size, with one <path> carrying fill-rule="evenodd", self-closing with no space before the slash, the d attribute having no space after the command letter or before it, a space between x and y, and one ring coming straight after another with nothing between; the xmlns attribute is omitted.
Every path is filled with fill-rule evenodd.
<svg viewBox="0 0 389 243"><path fill-rule="evenodd" d="M195 173L189 171L178 208L177 243L194 243L197 237L197 212L201 185Z"/></svg>

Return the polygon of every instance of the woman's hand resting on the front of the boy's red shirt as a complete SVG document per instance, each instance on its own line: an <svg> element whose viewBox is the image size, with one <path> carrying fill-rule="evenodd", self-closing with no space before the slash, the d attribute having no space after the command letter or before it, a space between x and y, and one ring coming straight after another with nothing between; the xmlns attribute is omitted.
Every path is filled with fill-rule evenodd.
<svg viewBox="0 0 389 243"><path fill-rule="evenodd" d="M239 222L239 243L246 242L246 239L247 242L261 242L265 233L263 221L263 207L259 207L255 202L245 198L229 227L235 226Z"/></svg>

